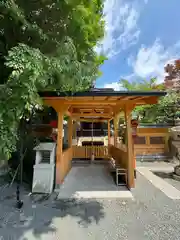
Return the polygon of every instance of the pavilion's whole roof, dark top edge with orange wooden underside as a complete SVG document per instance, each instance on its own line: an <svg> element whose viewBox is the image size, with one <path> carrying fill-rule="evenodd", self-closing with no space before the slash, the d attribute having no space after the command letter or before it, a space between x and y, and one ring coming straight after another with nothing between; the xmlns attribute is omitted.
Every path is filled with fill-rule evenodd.
<svg viewBox="0 0 180 240"><path fill-rule="evenodd" d="M125 106L139 106L156 104L158 98L165 96L162 91L113 91L93 90L77 93L40 92L40 96L47 104L57 111L62 106L67 106L67 115L83 119L111 119Z"/></svg>

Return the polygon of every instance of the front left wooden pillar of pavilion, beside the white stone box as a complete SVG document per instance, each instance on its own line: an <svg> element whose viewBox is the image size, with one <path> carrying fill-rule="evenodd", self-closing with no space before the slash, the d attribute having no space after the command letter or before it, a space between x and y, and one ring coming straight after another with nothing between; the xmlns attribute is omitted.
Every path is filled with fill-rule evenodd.
<svg viewBox="0 0 180 240"><path fill-rule="evenodd" d="M58 111L58 134L57 134L57 149L56 149L56 184L61 184L63 171L63 111Z"/></svg>

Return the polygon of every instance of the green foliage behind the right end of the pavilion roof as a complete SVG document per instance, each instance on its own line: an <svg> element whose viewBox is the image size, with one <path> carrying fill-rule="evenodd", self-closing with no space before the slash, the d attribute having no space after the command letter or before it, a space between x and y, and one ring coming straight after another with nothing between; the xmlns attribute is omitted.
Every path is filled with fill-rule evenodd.
<svg viewBox="0 0 180 240"><path fill-rule="evenodd" d="M139 82L129 82L123 79L120 80L120 85L129 91L164 90L164 84L157 84L156 78ZM143 123L167 123L178 115L178 101L179 94L169 90L165 97L159 99L158 104L138 106L133 114L138 116Z"/></svg>

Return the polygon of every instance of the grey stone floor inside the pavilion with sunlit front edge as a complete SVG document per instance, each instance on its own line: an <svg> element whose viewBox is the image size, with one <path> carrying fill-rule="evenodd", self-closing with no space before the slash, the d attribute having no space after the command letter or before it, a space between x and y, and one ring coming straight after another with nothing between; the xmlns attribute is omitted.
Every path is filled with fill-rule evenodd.
<svg viewBox="0 0 180 240"><path fill-rule="evenodd" d="M133 198L125 186L116 186L107 166L73 166L61 185L58 199Z"/></svg>

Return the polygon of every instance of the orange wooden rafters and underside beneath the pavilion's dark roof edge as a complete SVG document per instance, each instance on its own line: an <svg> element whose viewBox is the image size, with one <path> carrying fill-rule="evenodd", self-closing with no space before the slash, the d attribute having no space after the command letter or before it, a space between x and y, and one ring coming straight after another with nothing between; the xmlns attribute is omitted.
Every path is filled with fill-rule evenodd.
<svg viewBox="0 0 180 240"><path fill-rule="evenodd" d="M86 99L86 100L85 100ZM94 100L93 100L94 99ZM98 100L99 99L99 100ZM44 101L56 111L63 108L68 116L104 116L109 118L117 114L124 106L156 104L158 96L109 96L107 97L47 97ZM77 111L75 111L75 109ZM87 114L87 115L86 115Z"/></svg>

